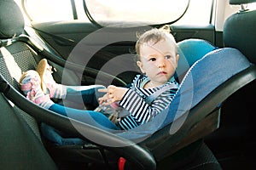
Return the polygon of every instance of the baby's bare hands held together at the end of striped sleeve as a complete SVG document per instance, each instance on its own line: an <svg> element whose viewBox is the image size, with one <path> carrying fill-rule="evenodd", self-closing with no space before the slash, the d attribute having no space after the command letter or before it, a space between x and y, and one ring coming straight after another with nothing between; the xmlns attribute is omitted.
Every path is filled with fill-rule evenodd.
<svg viewBox="0 0 256 170"><path fill-rule="evenodd" d="M113 102L123 99L128 88L119 88L113 85L108 86L108 88L101 88L98 91L107 93L102 98L99 98L100 105L110 105Z"/></svg>

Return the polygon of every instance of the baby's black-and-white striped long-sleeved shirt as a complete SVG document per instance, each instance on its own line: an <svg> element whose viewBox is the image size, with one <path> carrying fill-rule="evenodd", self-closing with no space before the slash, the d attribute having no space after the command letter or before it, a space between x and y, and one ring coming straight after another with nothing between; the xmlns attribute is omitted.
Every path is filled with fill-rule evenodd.
<svg viewBox="0 0 256 170"><path fill-rule="evenodd" d="M152 118L154 118L154 116L159 114L160 111L164 111L166 107L170 105L177 92L178 83L173 77L169 82L166 82L157 88L143 88L147 82L149 82L148 77L137 75L137 77L135 77L131 83L131 88L125 93L123 99L119 101L119 105L126 111L130 112L129 116L122 117L117 123L121 129L128 130L145 122L149 122ZM154 99L151 105L146 103L145 99L148 96L154 94L155 91L168 84L175 84L177 85L177 88L166 90L156 99Z"/></svg>

